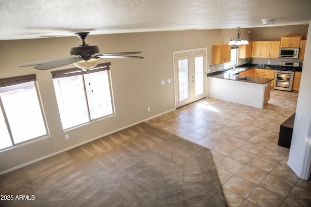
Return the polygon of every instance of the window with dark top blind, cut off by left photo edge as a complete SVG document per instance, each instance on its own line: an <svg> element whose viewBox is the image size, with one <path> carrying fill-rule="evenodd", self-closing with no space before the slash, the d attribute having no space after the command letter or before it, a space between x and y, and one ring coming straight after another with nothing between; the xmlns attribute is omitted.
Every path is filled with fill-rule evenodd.
<svg viewBox="0 0 311 207"><path fill-rule="evenodd" d="M35 74L0 79L0 149L44 135Z"/></svg>

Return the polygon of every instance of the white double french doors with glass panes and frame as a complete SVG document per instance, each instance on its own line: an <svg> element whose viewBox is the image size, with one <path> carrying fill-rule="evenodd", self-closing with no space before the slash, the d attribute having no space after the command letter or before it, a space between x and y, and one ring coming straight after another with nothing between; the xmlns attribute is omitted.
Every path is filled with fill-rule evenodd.
<svg viewBox="0 0 311 207"><path fill-rule="evenodd" d="M207 48L173 52L176 108L206 97Z"/></svg>

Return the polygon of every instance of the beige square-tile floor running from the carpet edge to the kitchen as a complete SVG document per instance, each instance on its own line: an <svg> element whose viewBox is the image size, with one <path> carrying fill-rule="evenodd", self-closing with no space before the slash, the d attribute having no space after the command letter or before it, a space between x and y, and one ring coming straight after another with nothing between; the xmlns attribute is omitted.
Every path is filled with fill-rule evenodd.
<svg viewBox="0 0 311 207"><path fill-rule="evenodd" d="M297 97L271 90L263 109L205 98L148 123L211 150L229 206L310 207L311 180L294 174L289 149L277 145Z"/></svg>

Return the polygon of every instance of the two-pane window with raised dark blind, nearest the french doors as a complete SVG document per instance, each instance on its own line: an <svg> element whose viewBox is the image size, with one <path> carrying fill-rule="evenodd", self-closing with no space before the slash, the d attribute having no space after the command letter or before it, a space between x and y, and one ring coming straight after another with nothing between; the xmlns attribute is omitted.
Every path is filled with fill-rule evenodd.
<svg viewBox="0 0 311 207"><path fill-rule="evenodd" d="M52 72L63 129L114 113L109 64L88 72L77 68Z"/></svg>

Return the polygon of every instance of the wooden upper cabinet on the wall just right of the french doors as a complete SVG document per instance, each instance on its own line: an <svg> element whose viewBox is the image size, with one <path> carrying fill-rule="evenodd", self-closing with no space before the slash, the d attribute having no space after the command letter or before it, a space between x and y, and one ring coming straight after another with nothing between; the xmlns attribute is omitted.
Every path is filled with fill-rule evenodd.
<svg viewBox="0 0 311 207"><path fill-rule="evenodd" d="M230 45L213 45L212 64L223 64L230 62L231 46Z"/></svg>

